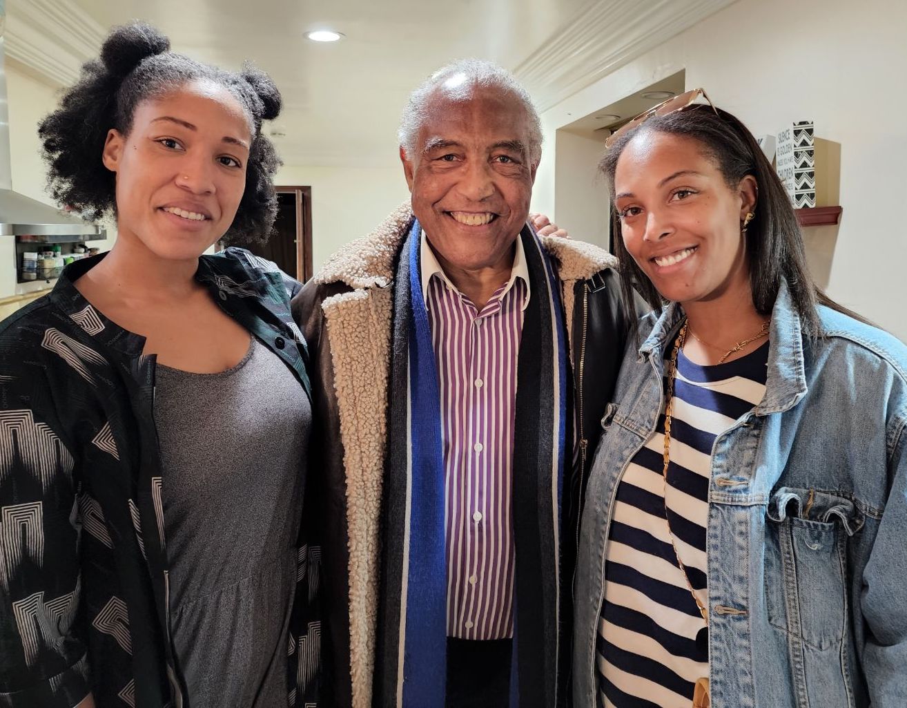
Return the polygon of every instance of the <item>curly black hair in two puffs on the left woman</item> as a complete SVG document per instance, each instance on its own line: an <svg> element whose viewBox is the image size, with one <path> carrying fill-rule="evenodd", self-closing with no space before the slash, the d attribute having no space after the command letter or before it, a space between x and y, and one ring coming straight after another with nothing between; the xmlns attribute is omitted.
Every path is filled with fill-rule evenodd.
<svg viewBox="0 0 907 708"><path fill-rule="evenodd" d="M252 129L246 189L224 240L267 240L278 211L273 177L280 160L261 134L261 122L280 113L277 86L250 64L238 74L175 54L167 37L142 23L114 27L100 59L83 65L79 81L38 127L54 200L91 219L115 213L116 177L102 162L108 131L128 135L139 103L199 79L225 87L246 111Z"/></svg>

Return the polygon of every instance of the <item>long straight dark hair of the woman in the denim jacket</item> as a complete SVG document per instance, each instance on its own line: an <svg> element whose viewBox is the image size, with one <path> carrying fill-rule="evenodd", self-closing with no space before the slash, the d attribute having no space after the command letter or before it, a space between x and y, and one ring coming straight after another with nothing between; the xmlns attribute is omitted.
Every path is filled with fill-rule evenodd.
<svg viewBox="0 0 907 708"><path fill-rule="evenodd" d="M684 111L653 116L619 136L599 163L601 172L604 172L609 182L612 204L614 173L620 154L639 133L670 133L696 140L716 162L718 170L731 188L736 189L747 174L756 178L759 190L754 210L756 217L746 229L749 280L756 310L763 315L770 314L781 281L786 280L807 336L815 337L819 332L818 313L815 310L817 304L827 305L859 319L859 316L831 300L815 284L806 265L803 234L794 207L753 134L735 116L727 111L716 110L717 113L708 105L693 105ZM614 234L614 251L623 276L624 303L628 321L635 323L636 315L632 310L634 287L656 311L661 310L664 300L624 247L620 238L619 214L613 206L611 211L611 232Z"/></svg>

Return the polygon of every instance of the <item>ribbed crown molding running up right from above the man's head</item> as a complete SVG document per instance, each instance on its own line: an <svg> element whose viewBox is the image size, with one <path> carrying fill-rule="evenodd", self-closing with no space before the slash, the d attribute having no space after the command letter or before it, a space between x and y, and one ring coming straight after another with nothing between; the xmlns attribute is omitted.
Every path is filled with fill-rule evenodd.
<svg viewBox="0 0 907 708"><path fill-rule="evenodd" d="M540 113L736 0L595 0L513 74Z"/></svg>

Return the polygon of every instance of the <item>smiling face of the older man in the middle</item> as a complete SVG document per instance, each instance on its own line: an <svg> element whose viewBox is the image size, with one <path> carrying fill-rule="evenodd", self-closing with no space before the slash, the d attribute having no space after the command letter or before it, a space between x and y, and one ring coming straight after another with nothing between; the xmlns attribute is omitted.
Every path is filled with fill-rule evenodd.
<svg viewBox="0 0 907 708"><path fill-rule="evenodd" d="M413 211L444 261L481 270L509 258L529 214L537 165L530 116L512 93L439 87L416 141L401 148Z"/></svg>

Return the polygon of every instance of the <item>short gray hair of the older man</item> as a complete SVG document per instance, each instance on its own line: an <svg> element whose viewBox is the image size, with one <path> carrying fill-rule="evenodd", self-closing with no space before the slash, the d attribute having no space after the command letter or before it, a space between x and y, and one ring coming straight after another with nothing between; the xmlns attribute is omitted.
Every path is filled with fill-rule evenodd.
<svg viewBox="0 0 907 708"><path fill-rule="evenodd" d="M537 165L541 160L541 120L529 93L509 71L483 59L458 59L446 64L409 94L409 103L397 130L400 146L406 155L414 157L419 152L416 144L419 131L428 113L432 94L437 89L443 88L446 96L456 100L467 98L476 86L510 93L522 103L529 123L529 161Z"/></svg>

